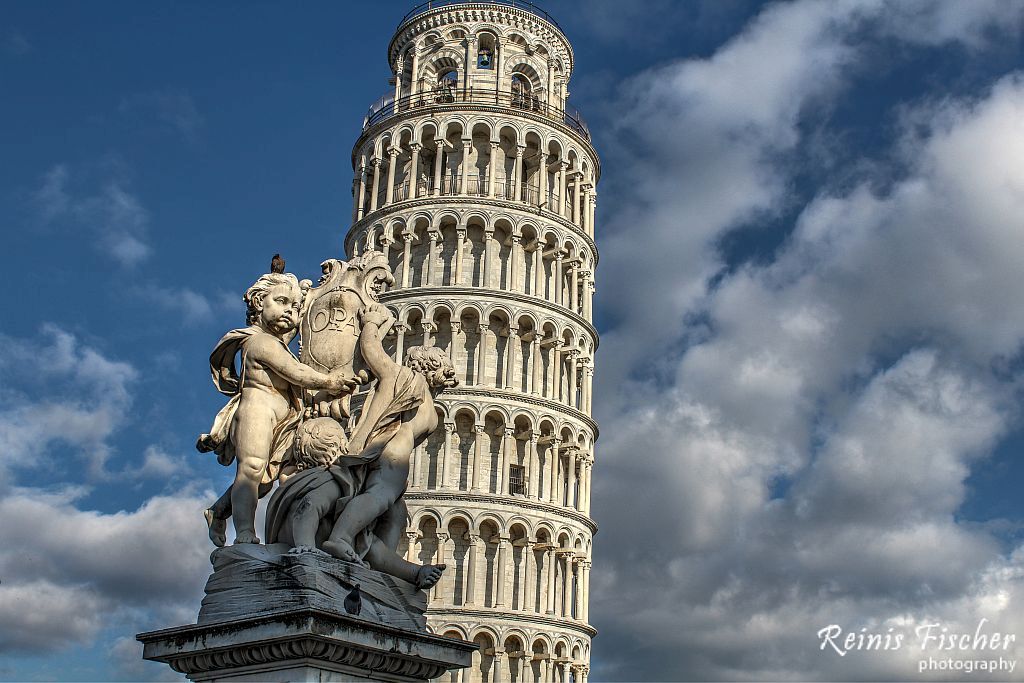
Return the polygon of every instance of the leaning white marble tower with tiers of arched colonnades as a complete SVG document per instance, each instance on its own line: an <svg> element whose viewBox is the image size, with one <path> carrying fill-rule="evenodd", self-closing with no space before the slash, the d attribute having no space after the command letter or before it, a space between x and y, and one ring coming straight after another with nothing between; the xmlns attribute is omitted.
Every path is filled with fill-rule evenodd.
<svg viewBox="0 0 1024 683"><path fill-rule="evenodd" d="M414 454L401 551L449 567L431 630L480 644L453 680L580 683L600 166L566 106L572 47L532 3L430 2L387 55L393 91L353 147L345 248L388 255L395 357L442 347L461 382Z"/></svg>

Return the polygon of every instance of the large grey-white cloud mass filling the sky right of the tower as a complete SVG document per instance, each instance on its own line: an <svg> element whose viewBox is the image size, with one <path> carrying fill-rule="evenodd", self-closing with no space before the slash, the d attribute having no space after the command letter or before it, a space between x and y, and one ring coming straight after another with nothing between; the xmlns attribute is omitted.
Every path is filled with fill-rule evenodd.
<svg viewBox="0 0 1024 683"><path fill-rule="evenodd" d="M765 264L724 271L716 246L794 201L808 119L872 40L985 49L1024 9L904 3L896 22L888 6L769 5L711 58L628 90L629 146L606 164L631 184L602 194L615 327L592 618L614 645L595 678L918 675L906 650L826 656L814 633L830 623L984 615L1024 636L1024 551L955 518L1020 413L1020 378L993 368L1024 342L1024 82L904 113L897 158L822 189Z"/></svg>

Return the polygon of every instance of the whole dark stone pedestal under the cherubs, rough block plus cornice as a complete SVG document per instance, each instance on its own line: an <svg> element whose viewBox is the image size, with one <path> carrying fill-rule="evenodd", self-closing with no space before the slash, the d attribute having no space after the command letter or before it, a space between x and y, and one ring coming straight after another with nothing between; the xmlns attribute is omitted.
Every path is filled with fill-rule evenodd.
<svg viewBox="0 0 1024 683"><path fill-rule="evenodd" d="M136 636L143 658L193 681L427 681L477 649L427 633L425 593L360 565L284 545L211 559L199 623Z"/></svg>

